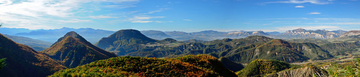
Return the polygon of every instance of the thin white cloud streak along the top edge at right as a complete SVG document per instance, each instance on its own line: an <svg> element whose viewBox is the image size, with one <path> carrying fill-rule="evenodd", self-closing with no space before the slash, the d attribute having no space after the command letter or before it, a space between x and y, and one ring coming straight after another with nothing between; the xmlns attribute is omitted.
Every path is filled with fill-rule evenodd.
<svg viewBox="0 0 360 77"><path fill-rule="evenodd" d="M324 5L324 4L330 4L331 2L320 1L320 0L289 0L289 1L267 2L267 3L264 3L264 4L268 4L268 3L293 3L293 4L310 3L310 4Z"/></svg>

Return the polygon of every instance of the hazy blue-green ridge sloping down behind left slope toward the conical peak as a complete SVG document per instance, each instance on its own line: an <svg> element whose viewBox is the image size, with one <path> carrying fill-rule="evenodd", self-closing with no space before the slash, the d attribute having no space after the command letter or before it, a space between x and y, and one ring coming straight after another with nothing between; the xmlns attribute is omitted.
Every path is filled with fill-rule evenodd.
<svg viewBox="0 0 360 77"><path fill-rule="evenodd" d="M44 50L46 48L49 48L50 45L51 45L50 42L31 39L31 38L27 38L27 37L18 37L18 36L6 35L6 34L4 34L4 36L11 39L11 40L13 40L14 42L24 44L24 45L28 45L29 47L31 47L32 49L34 49L36 51Z"/></svg>

